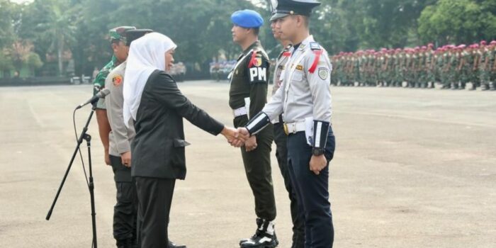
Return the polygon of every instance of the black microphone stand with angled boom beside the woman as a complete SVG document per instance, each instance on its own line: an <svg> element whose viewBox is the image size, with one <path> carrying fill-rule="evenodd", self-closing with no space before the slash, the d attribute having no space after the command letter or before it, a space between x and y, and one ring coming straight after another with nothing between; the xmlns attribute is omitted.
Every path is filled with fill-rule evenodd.
<svg viewBox="0 0 496 248"><path fill-rule="evenodd" d="M98 99L97 99L98 100ZM74 149L74 153L72 154L71 162L69 162L69 166L67 167L67 170L65 171L64 178L62 179L62 182L60 183L59 190L57 191L57 195L55 195L55 199L53 199L52 207L50 207L50 210L48 210L47 217L45 218L46 220L50 220L50 217L52 216L52 211L53 208L55 208L55 203L57 203L57 199L60 196L60 191L62 191L62 187L64 186L65 179L67 179L67 174L69 174L69 170L72 167L72 163L74 162L74 158L76 158L77 152L79 150L79 147L81 146L81 143L83 140L86 140L86 145L88 147L88 164L89 164L89 196L90 196L90 201L91 201L91 223L93 227L93 247L97 248L96 245L96 213L95 213L95 196L94 196L94 182L93 182L93 171L91 170L91 135L87 134L86 131L88 131L88 125L91 120L91 117L93 117L93 113L95 112L96 106L93 106L91 108L91 113L89 113L88 120L86 120L86 125L84 125L84 128L81 132L81 135L79 135L79 139L77 140L77 146L76 149Z"/></svg>

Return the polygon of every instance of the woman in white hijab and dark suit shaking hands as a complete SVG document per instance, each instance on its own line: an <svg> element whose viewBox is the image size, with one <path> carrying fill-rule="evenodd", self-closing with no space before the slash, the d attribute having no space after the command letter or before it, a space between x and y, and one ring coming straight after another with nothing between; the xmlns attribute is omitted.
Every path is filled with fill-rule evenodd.
<svg viewBox="0 0 496 248"><path fill-rule="evenodd" d="M186 176L183 118L213 135L237 140L226 128L181 94L167 74L176 44L165 35L149 33L130 46L125 71L124 120L135 120L131 174L136 181L142 247L167 247L167 225L176 179ZM125 121L127 123L127 121ZM239 137L242 139L242 137ZM165 238L164 238L165 235Z"/></svg>

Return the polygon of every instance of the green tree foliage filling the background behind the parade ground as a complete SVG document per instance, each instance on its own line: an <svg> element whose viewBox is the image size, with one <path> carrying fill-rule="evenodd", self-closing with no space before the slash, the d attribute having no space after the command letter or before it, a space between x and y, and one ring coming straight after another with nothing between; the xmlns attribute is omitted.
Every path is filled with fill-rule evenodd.
<svg viewBox="0 0 496 248"><path fill-rule="evenodd" d="M310 30L329 54L435 42L470 43L496 38L494 0L321 0ZM58 67L72 53L76 74L91 74L111 58L108 30L116 26L152 28L177 44L176 60L207 64L220 53L232 59L230 15L255 9L266 24L260 39L274 57L281 47L272 38L266 0L35 0L13 4L0 0L0 49L13 43L33 44L41 69ZM47 58L55 58L57 65ZM9 58L2 56L3 67ZM13 64L13 62L10 62ZM35 65L35 66L34 66ZM31 67L31 66L30 66ZM1 69L1 68L0 68Z"/></svg>

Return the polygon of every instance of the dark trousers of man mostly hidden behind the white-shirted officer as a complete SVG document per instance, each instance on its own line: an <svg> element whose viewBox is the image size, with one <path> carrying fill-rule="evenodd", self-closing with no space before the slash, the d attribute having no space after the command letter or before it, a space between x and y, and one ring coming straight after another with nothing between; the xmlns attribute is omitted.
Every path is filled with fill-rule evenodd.
<svg viewBox="0 0 496 248"><path fill-rule="evenodd" d="M291 182L291 176L288 170L288 136L284 133L284 126L282 122L274 124L274 142L276 142L276 158L279 164L279 169L281 169L281 174L284 179L284 186L286 186L286 191L288 191L289 200L291 201L291 220L293 220L293 242L300 245L297 247L303 247L301 245L301 240L305 235L305 220L303 218L303 212L298 208L298 200L296 198L296 192L293 188L293 183ZM300 240L295 240L300 239Z"/></svg>

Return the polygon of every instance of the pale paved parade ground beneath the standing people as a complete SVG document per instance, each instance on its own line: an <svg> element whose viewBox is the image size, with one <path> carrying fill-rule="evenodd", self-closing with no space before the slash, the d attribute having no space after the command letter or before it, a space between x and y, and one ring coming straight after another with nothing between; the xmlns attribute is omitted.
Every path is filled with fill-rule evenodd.
<svg viewBox="0 0 496 248"><path fill-rule="evenodd" d="M228 84L179 87L232 125ZM89 192L79 159L52 219L45 220L74 150L72 110L91 91L91 85L0 88L0 247L91 247ZM333 87L332 94L334 247L496 247L495 91ZM77 112L78 132L89 111ZM98 246L115 247L115 185L96 119L89 134ZM255 230L241 154L222 135L190 123L186 140L192 144L188 175L176 184L169 237L190 248L238 247ZM276 233L279 247L287 248L289 201L274 148Z"/></svg>

